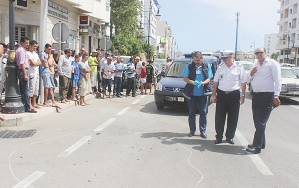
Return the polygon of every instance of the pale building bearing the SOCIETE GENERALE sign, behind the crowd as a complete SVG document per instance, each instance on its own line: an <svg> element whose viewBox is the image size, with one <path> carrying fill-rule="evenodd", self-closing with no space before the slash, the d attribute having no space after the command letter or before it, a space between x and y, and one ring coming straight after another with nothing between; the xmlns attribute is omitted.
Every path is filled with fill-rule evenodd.
<svg viewBox="0 0 299 188"><path fill-rule="evenodd" d="M43 9L47 13L46 43L57 42L52 37L52 28L61 21L70 29L66 43L77 52L81 47L89 51L98 48L98 42L106 30L105 25L110 22L110 0L16 0L16 42L22 36L41 41L40 18ZM0 1L0 42L5 44L9 43L8 28L9 1L5 0ZM43 47L40 49L43 50Z"/></svg>

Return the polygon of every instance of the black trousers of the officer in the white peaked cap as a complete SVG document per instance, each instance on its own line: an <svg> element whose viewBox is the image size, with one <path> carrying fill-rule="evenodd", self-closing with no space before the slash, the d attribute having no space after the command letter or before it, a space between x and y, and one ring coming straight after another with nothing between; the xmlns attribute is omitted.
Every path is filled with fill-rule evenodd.
<svg viewBox="0 0 299 188"><path fill-rule="evenodd" d="M225 119L227 114L227 128L225 137L227 139L234 138L237 129L238 117L240 109L240 91L231 92L221 91L217 89L217 103L215 113L215 130L216 139L222 140Z"/></svg>

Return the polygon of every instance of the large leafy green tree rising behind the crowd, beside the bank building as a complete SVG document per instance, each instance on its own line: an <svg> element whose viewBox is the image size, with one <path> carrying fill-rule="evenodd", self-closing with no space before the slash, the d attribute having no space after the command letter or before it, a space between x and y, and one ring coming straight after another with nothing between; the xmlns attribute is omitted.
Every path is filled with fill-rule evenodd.
<svg viewBox="0 0 299 188"><path fill-rule="evenodd" d="M112 49L117 49L122 55L139 55L144 51L143 37L138 31L138 19L141 3L138 0L111 0L111 27L115 33L110 36Z"/></svg>

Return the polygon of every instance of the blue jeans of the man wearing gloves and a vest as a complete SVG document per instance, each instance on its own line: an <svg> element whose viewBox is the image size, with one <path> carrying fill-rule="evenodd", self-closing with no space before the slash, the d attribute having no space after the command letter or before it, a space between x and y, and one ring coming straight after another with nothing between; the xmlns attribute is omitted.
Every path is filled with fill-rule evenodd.
<svg viewBox="0 0 299 188"><path fill-rule="evenodd" d="M205 96L192 96L189 104L189 127L190 132L196 131L196 108L199 109L199 130L204 133L207 128L208 100Z"/></svg>

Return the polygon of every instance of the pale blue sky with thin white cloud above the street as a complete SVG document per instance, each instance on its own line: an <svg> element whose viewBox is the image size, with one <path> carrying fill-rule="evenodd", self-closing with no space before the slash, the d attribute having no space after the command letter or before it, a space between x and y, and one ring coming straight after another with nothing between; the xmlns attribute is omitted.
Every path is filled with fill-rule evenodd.
<svg viewBox="0 0 299 188"><path fill-rule="evenodd" d="M179 51L235 49L253 51L264 45L264 35L278 33L277 0L158 0L161 20L171 27Z"/></svg>

